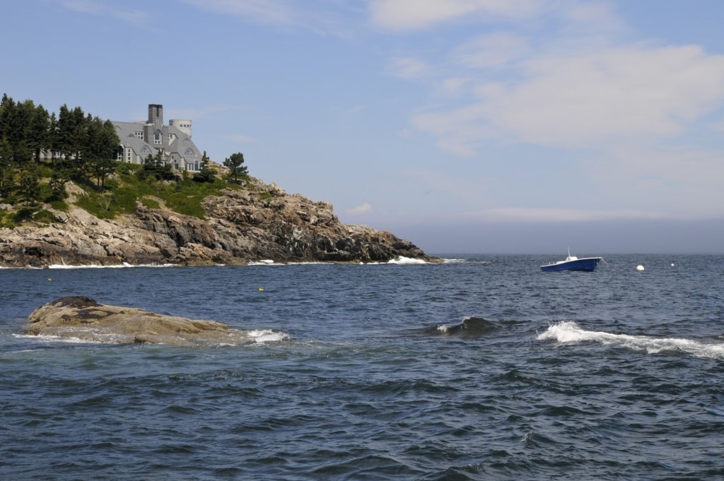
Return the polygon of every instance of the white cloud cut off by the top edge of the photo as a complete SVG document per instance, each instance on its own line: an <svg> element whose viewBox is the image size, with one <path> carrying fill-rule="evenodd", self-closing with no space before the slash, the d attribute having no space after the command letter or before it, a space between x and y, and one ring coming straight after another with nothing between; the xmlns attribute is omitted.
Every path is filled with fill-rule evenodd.
<svg viewBox="0 0 724 481"><path fill-rule="evenodd" d="M441 22L479 18L529 17L539 0L372 0L371 21L386 30L421 30Z"/></svg>

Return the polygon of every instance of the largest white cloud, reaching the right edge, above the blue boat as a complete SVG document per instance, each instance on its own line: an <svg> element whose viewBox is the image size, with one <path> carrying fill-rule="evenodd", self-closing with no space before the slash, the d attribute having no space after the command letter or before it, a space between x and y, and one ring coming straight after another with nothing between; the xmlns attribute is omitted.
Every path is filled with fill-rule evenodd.
<svg viewBox="0 0 724 481"><path fill-rule="evenodd" d="M543 55L521 64L517 82L481 82L476 92L468 106L413 123L468 156L490 137L563 148L657 139L719 108L724 56L645 45Z"/></svg>

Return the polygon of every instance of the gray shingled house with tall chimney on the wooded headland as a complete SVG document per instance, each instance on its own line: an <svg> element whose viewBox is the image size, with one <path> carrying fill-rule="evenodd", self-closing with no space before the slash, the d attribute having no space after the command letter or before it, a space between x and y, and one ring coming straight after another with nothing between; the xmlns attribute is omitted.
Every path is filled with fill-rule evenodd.
<svg viewBox="0 0 724 481"><path fill-rule="evenodd" d="M143 163L162 149L164 160L174 169L199 170L201 152L191 140L190 120L173 119L164 125L164 106L151 103L146 122L111 122L121 141L117 161Z"/></svg>

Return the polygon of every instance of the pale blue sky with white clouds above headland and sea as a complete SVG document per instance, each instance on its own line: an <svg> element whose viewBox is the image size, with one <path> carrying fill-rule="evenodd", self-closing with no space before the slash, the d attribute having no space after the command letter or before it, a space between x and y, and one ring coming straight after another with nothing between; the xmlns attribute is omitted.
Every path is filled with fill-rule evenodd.
<svg viewBox="0 0 724 481"><path fill-rule="evenodd" d="M719 0L3 0L0 90L191 119L430 254L724 253Z"/></svg>

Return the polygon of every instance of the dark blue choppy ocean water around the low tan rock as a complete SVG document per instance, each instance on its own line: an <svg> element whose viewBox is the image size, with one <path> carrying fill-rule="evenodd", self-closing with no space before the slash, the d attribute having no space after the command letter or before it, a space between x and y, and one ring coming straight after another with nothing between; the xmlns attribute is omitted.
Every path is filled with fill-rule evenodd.
<svg viewBox="0 0 724 481"><path fill-rule="evenodd" d="M0 269L0 480L724 478L724 256L445 257ZM25 336L67 295L253 342Z"/></svg>

